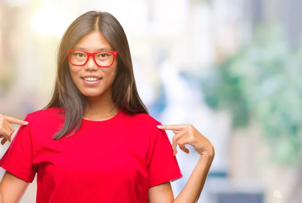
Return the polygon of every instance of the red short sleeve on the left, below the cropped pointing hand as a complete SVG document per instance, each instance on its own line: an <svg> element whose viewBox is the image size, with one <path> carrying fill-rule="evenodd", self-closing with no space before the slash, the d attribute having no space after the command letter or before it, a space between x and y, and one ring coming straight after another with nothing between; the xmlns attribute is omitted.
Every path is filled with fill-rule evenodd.
<svg viewBox="0 0 302 203"><path fill-rule="evenodd" d="M27 117L25 118L27 120ZM36 169L32 159L32 141L29 126L21 126L10 147L0 160L0 167L26 182L32 182Z"/></svg>

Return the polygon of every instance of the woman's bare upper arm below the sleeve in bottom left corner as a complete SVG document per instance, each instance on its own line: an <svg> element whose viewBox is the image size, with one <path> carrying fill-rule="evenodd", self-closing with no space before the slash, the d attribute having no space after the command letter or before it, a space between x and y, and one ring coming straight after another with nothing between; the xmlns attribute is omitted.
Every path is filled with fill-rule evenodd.
<svg viewBox="0 0 302 203"><path fill-rule="evenodd" d="M28 184L28 182L6 171L0 182L0 203L19 202Z"/></svg>

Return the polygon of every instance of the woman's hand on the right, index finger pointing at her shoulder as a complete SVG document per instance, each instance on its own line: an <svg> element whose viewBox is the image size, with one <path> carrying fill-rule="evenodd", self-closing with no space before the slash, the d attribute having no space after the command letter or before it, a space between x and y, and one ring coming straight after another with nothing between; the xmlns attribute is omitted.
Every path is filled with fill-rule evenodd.
<svg viewBox="0 0 302 203"><path fill-rule="evenodd" d="M189 150L186 148L186 144L194 147L196 152L203 155L214 156L214 148L210 141L205 138L193 125L163 125L158 126L162 130L172 130L175 134L173 136L172 148L174 155L177 154L177 145L185 153L189 154Z"/></svg>

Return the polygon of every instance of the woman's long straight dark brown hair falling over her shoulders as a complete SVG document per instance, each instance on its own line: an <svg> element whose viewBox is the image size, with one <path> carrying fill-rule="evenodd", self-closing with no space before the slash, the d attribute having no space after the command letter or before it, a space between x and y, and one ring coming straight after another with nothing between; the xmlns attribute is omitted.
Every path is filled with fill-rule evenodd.
<svg viewBox="0 0 302 203"><path fill-rule="evenodd" d="M81 126L87 101L73 83L66 50L72 49L84 36L93 31L100 31L112 48L118 52L117 73L112 84L112 97L115 105L128 113L148 114L137 92L128 40L122 26L109 13L90 11L71 23L59 44L57 77L53 95L49 104L44 108L57 107L64 110L64 124L53 136L55 140L71 131L73 134Z"/></svg>

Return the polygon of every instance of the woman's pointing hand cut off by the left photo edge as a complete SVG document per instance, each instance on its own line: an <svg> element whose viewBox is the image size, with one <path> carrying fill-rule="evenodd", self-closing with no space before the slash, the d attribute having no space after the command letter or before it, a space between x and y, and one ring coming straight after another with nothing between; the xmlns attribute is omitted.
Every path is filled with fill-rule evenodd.
<svg viewBox="0 0 302 203"><path fill-rule="evenodd" d="M12 135L15 129L11 124L27 125L28 122L0 114L0 139L2 139L2 145L7 141L12 141Z"/></svg>

